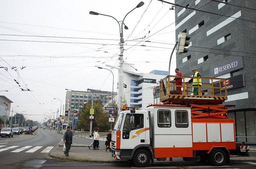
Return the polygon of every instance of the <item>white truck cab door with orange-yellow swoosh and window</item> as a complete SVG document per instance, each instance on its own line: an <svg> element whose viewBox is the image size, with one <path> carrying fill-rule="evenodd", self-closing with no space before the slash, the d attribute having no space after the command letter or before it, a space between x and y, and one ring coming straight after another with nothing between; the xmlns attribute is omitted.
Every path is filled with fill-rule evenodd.
<svg viewBox="0 0 256 169"><path fill-rule="evenodd" d="M136 145L145 144L146 139L145 115L127 113L122 129L121 149L133 149Z"/></svg>

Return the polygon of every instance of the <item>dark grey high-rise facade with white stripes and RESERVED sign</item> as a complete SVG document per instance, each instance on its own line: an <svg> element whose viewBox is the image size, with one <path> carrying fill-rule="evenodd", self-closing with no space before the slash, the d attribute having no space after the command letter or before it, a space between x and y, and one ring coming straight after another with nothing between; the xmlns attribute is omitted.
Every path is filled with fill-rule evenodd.
<svg viewBox="0 0 256 169"><path fill-rule="evenodd" d="M229 4L203 0L175 0L175 3L228 17L176 7L176 39L179 32L190 36L188 53L176 54L177 68L191 76L196 68L202 77L226 78L228 110L235 119L237 141L256 143L256 1L224 0ZM237 6L232 6L235 4ZM241 20L246 19L249 21ZM251 21L250 21L251 20ZM188 69L189 68L189 69Z"/></svg>

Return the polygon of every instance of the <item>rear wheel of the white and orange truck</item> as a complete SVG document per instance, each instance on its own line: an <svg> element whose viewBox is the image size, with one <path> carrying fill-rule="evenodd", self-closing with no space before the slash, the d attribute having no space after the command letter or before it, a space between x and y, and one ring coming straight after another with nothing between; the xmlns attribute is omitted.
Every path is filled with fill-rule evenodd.
<svg viewBox="0 0 256 169"><path fill-rule="evenodd" d="M209 162L215 166L221 166L227 161L226 153L221 149L215 149L209 156Z"/></svg>

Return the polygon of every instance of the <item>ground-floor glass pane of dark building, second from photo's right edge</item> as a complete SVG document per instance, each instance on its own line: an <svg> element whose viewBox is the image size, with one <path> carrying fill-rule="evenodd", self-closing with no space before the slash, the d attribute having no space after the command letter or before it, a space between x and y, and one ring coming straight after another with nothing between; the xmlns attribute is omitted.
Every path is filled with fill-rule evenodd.
<svg viewBox="0 0 256 169"><path fill-rule="evenodd" d="M237 142L246 142L244 112L236 112L236 134Z"/></svg>

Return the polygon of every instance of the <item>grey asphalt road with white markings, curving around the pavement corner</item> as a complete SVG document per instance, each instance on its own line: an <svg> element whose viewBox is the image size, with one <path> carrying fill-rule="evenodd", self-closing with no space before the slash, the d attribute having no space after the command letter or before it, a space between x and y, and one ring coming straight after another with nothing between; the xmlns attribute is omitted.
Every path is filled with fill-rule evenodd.
<svg viewBox="0 0 256 169"><path fill-rule="evenodd" d="M54 160L47 157L48 152L63 139L63 135L52 133L49 130L38 129L36 136L19 135L13 138L0 138L0 168L136 168L128 161L122 163L78 163ZM92 140L73 137L74 143L90 144ZM101 142L104 144L104 142ZM251 154L254 155L254 154ZM193 162L156 162L148 168L178 168L178 169L255 169L256 163L232 162L222 167L202 165Z"/></svg>

